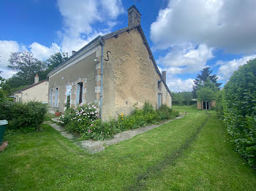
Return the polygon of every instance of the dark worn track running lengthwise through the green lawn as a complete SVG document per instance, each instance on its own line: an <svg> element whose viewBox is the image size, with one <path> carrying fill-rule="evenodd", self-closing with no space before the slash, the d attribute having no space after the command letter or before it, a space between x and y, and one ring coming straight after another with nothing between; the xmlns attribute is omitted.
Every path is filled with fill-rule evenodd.
<svg viewBox="0 0 256 191"><path fill-rule="evenodd" d="M208 122L208 118L211 116L211 114L208 114L208 117L206 120L200 125L195 133L192 133L191 136L184 142L184 144L181 144L181 147L178 147L178 149L174 150L170 153L170 155L166 155L164 160L159 161L157 165L151 166L148 168L144 173L138 174L135 184L132 184L127 189L124 190L143 190L143 188L146 187L146 180L153 174L159 174L167 165L174 165L174 162L178 157L181 157L184 151L192 144L193 141L197 138L198 133L200 133L200 130L206 125L206 122Z"/></svg>

